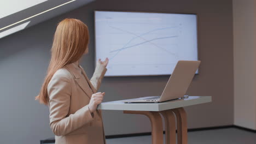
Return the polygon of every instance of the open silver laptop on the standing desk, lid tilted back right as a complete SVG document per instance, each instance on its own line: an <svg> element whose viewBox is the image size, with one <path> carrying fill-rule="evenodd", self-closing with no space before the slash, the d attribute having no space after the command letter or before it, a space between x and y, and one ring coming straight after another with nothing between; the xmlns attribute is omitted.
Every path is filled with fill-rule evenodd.
<svg viewBox="0 0 256 144"><path fill-rule="evenodd" d="M125 103L158 103L183 98L201 61L178 61L161 96L122 100Z"/></svg>

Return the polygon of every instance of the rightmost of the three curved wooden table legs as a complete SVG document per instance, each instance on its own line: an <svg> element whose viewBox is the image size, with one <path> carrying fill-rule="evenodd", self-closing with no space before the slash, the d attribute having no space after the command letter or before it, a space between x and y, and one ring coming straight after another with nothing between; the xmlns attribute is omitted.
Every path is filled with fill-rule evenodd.
<svg viewBox="0 0 256 144"><path fill-rule="evenodd" d="M168 111L173 111L177 118L177 137L178 144L188 143L188 126L187 126L187 115L183 107L177 109L172 109Z"/></svg>

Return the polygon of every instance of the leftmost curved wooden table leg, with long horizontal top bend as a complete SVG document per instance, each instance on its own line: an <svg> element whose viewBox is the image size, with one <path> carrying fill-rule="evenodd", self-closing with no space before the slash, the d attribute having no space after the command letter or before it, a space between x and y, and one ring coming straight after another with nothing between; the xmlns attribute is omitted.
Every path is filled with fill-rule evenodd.
<svg viewBox="0 0 256 144"><path fill-rule="evenodd" d="M155 111L123 111L124 113L146 115L151 122L152 144L161 144L163 141L162 118L159 112Z"/></svg>

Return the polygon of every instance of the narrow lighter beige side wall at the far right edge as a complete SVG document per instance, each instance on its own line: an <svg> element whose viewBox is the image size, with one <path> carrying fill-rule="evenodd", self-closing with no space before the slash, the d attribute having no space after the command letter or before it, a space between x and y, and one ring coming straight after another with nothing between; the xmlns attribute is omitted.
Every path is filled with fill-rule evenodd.
<svg viewBox="0 0 256 144"><path fill-rule="evenodd" d="M255 8L255 0L233 0L234 124L253 130L256 130Z"/></svg>

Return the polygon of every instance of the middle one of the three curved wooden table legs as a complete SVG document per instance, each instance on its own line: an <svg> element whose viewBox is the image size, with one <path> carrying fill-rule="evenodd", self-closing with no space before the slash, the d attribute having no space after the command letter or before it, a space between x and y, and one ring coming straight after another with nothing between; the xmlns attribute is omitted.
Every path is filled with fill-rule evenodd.
<svg viewBox="0 0 256 144"><path fill-rule="evenodd" d="M176 123L174 113L170 110L160 111L165 118L165 143L176 144Z"/></svg>

